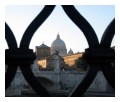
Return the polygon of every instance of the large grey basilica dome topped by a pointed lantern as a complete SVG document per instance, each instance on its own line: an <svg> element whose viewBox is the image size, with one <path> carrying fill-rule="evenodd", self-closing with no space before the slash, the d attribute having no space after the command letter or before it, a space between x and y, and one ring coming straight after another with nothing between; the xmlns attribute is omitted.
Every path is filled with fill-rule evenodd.
<svg viewBox="0 0 120 102"><path fill-rule="evenodd" d="M60 39L60 35L57 35L57 38L53 41L51 44L51 54L54 54L56 51L60 56L65 56L67 55L67 49L65 42Z"/></svg>

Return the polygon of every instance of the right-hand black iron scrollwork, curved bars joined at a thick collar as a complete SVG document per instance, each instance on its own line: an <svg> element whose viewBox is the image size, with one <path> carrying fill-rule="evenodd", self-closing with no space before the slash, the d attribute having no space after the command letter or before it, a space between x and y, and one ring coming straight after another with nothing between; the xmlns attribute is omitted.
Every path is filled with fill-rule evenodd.
<svg viewBox="0 0 120 102"><path fill-rule="evenodd" d="M101 64L102 64L101 68L106 79L108 80L110 85L113 88L115 88L115 75L114 75L114 71L112 70L111 61L109 61L110 59L114 60L114 56L115 56L114 50L110 49L111 41L115 34L115 19L106 28L106 31L103 34L101 43L99 44L96 33L94 32L93 28L85 20L85 18L74 8L74 6L62 6L62 7L66 12L66 14L68 15L68 17L78 26L80 30L83 31L89 45L89 48L86 49L85 51L85 54L84 54L85 57L83 56L86 60L88 60L88 63L89 63L88 71L85 77L83 78L83 81L75 90L73 90L70 96L82 96L84 94L84 92L88 89L88 87L90 86L90 84L92 83L92 81L94 80L98 72L97 67ZM94 58L94 53L98 54L98 56L95 55L96 58ZM106 59L104 56L107 53L109 53L109 56L106 56L107 57ZM102 56L99 56L99 54L102 54ZM90 58L88 58L89 56ZM98 60L100 57L102 57L101 59L105 58L108 62L105 61L104 63L104 61L100 62L99 60L99 63L97 63L96 65L95 60ZM110 78L112 78L112 80Z"/></svg>

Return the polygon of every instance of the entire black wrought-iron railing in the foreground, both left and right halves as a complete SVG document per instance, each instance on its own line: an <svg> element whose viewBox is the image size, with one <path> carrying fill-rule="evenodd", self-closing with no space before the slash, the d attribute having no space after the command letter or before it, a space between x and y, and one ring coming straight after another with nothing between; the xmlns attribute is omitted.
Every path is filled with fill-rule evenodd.
<svg viewBox="0 0 120 102"><path fill-rule="evenodd" d="M54 8L55 8L54 5L44 7L44 9L38 14L38 16L32 21L32 23L26 29L21 39L19 48L17 47L14 34L12 33L8 25L7 24L5 25L5 37L9 46L9 49L5 51L6 55L5 62L8 65L5 77L6 89L13 80L17 67L20 66L20 69L25 79L30 84L30 86L35 90L38 96L42 97L50 96L47 90L35 78L33 72L30 69L30 65L35 60L35 54L31 49L29 49L29 44L35 31L48 18L48 16L52 13ZM62 8L68 15L68 17L78 26L80 30L82 30L89 45L89 48L85 50L85 54L83 56L84 59L88 62L89 65L88 70L82 82L78 85L77 88L73 90L73 92L69 96L78 97L84 94L84 92L88 89L88 87L94 80L98 72L97 67L99 65L101 66L104 76L106 77L110 85L113 88L115 88L115 76L114 76L115 73L113 67L111 66L111 62L115 60L114 58L115 52L114 49L110 48L111 41L115 34L115 20L113 20L109 24L99 44L98 38L93 28L87 22L87 20L74 8L74 6L63 5ZM12 43L10 41L12 41ZM106 53L108 56L106 56ZM99 56L100 54L101 56ZM105 60L102 61L99 60L99 58L100 59L105 58ZM109 72L109 74L107 72Z"/></svg>

